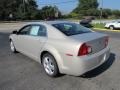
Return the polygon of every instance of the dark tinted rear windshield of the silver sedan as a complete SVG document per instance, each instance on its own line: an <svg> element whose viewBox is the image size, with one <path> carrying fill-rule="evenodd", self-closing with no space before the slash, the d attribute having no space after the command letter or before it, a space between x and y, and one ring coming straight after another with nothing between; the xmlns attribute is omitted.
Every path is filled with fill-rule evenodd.
<svg viewBox="0 0 120 90"><path fill-rule="evenodd" d="M57 23L57 24L53 24L53 26L67 36L91 32L90 29L76 23Z"/></svg>

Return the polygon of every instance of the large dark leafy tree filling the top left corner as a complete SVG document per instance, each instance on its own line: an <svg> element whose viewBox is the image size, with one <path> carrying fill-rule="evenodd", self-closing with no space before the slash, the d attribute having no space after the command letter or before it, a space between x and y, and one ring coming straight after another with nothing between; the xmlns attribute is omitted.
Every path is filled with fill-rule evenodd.
<svg viewBox="0 0 120 90"><path fill-rule="evenodd" d="M37 4L34 0L0 0L0 9L1 20L8 19L9 14L16 19L33 19Z"/></svg>

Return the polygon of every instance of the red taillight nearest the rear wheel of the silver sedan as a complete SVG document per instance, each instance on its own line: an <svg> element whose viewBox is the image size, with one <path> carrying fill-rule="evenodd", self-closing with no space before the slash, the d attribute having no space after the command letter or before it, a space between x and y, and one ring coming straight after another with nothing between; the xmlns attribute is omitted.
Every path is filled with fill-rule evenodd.
<svg viewBox="0 0 120 90"><path fill-rule="evenodd" d="M78 51L78 56L87 55L92 52L92 47L83 43Z"/></svg>

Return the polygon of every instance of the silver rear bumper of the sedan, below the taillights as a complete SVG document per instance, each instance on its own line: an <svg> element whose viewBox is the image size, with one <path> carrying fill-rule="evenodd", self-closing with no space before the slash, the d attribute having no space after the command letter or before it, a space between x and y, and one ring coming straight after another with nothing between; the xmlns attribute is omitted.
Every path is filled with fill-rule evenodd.
<svg viewBox="0 0 120 90"><path fill-rule="evenodd" d="M69 65L63 70L63 73L80 76L90 70L103 64L108 60L110 55L109 47L103 49L102 51L89 56L83 57L73 57L69 60Z"/></svg>

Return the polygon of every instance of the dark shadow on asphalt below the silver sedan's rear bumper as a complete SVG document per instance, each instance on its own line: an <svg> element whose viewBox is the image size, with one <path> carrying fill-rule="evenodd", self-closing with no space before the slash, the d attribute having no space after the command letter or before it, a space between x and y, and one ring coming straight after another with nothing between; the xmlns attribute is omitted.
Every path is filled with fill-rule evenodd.
<svg viewBox="0 0 120 90"><path fill-rule="evenodd" d="M102 74L103 72L105 72L107 69L109 69L111 67L111 65L114 63L114 61L115 61L115 54L111 53L109 59L106 62L104 62L101 66L93 69L92 71L85 73L81 77L82 78L96 77L96 76Z"/></svg>

